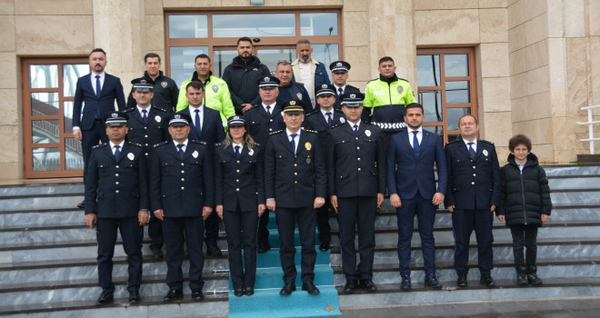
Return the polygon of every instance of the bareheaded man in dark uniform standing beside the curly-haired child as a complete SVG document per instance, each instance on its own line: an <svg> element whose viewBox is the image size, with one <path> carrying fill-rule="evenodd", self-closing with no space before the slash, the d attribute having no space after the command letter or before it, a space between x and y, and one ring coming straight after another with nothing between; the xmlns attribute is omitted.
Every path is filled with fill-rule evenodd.
<svg viewBox="0 0 600 318"><path fill-rule="evenodd" d="M461 139L445 145L449 170L445 206L452 213L455 234L456 285L466 287L469 271L469 239L475 229L480 283L494 286L492 224L502 191L500 165L494 144L477 139L479 124L472 114L458 120Z"/></svg>

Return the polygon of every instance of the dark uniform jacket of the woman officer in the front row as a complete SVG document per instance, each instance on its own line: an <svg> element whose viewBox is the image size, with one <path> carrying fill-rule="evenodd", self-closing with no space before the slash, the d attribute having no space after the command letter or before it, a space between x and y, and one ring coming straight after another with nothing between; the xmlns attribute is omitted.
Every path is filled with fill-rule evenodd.
<svg viewBox="0 0 600 318"><path fill-rule="evenodd" d="M215 204L225 211L257 211L265 204L265 175L263 154L258 144L249 150L244 144L239 158L234 147L215 144Z"/></svg>

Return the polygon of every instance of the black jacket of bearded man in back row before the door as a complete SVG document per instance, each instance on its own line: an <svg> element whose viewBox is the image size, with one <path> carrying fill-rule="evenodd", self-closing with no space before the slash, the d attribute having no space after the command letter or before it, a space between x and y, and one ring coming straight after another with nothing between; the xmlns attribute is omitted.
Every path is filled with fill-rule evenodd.
<svg viewBox="0 0 600 318"><path fill-rule="evenodd" d="M242 104L258 103L258 79L270 74L269 68L254 55L250 55L248 62L235 56L231 64L225 67L222 78L229 87L237 114L242 114Z"/></svg>

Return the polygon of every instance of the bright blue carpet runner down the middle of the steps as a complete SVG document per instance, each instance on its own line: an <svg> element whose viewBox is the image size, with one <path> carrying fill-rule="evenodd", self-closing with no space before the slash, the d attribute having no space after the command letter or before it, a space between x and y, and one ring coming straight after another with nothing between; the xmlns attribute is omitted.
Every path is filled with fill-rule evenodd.
<svg viewBox="0 0 600 318"><path fill-rule="evenodd" d="M229 279L229 317L325 317L340 316L337 290L334 287L334 271L329 266L329 251L321 252L316 246L315 285L321 293L311 295L302 290L300 280L300 238L295 230L295 264L297 277L296 291L282 296L279 291L284 286L284 271L279 259L279 233L275 224L275 214L269 214L269 243L271 250L259 253L256 262L255 294L235 297L231 278ZM317 244L318 238L317 238Z"/></svg>

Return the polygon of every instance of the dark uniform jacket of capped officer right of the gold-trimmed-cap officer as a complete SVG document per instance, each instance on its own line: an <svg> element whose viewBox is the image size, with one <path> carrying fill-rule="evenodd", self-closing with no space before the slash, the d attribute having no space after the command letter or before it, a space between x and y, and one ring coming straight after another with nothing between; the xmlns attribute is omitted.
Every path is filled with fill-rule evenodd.
<svg viewBox="0 0 600 318"><path fill-rule="evenodd" d="M338 124L329 130L327 145L329 195L385 194L385 151L379 127L361 122L356 135L350 124Z"/></svg>

